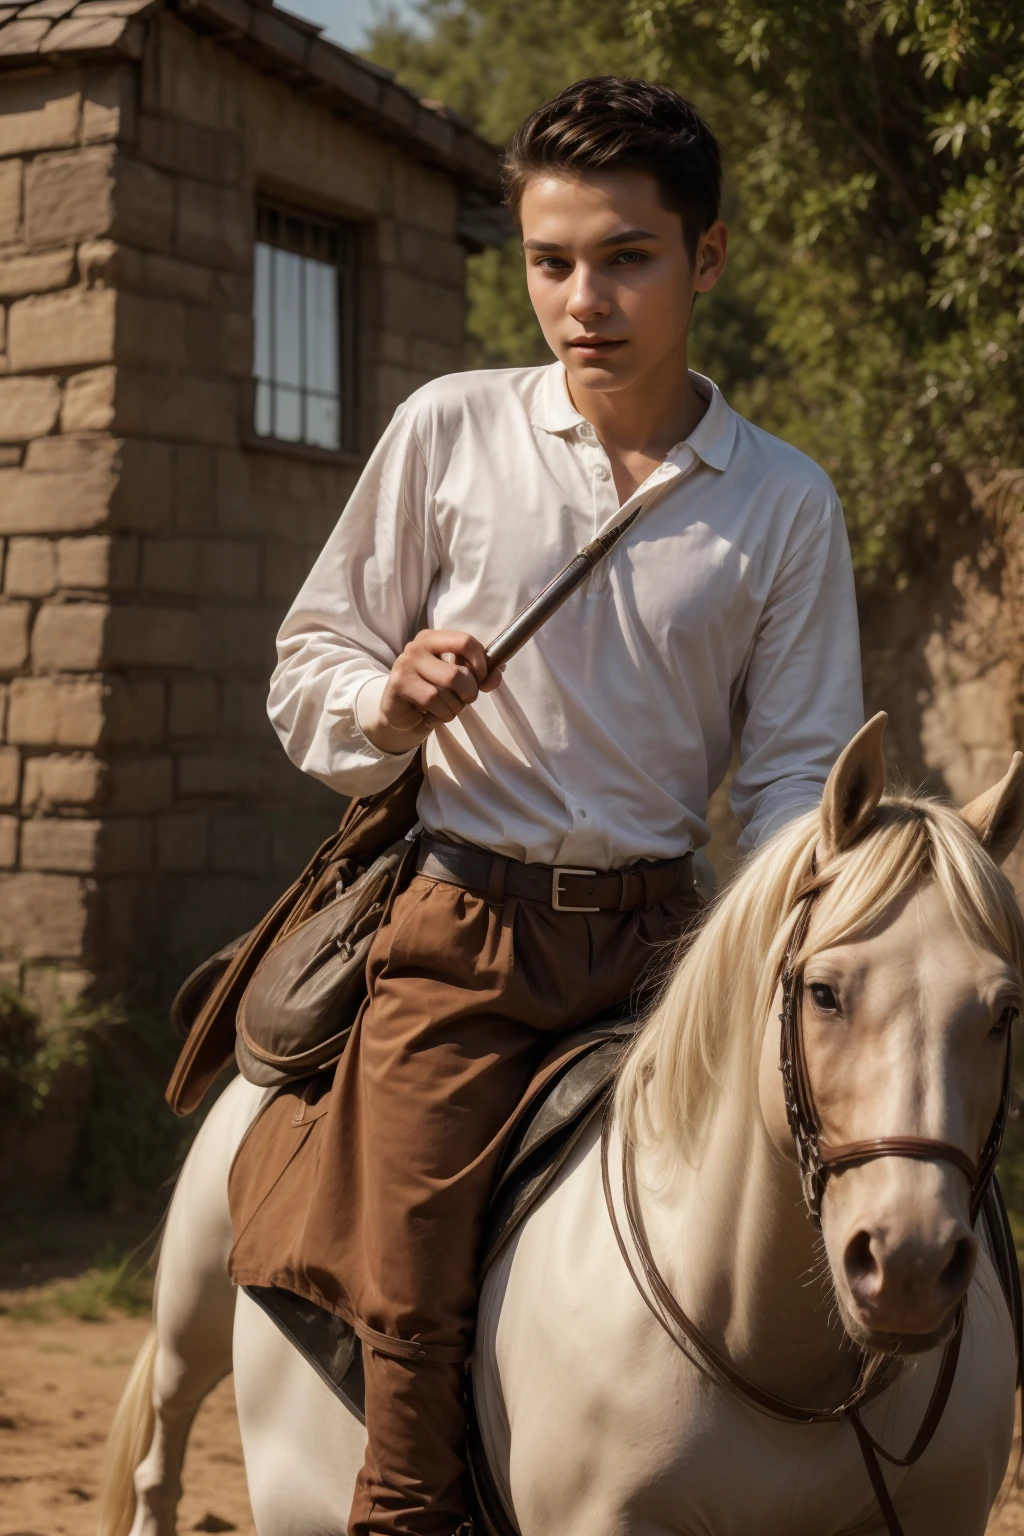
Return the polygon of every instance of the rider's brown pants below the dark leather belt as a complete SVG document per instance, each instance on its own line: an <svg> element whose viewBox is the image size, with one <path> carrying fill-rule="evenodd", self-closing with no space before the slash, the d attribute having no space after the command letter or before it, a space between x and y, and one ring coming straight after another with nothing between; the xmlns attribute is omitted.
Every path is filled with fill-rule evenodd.
<svg viewBox="0 0 1024 1536"><path fill-rule="evenodd" d="M557 1037L626 998L697 906L695 892L642 912L496 906L422 876L395 903L304 1238L306 1273L364 1338L348 1536L453 1536L465 1518L461 1362L508 1121Z"/></svg>

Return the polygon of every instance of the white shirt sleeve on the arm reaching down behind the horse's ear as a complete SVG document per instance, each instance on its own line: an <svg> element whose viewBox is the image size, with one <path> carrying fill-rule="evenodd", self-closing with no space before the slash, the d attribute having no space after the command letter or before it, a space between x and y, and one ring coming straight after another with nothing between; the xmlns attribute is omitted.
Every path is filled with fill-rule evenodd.
<svg viewBox="0 0 1024 1536"><path fill-rule="evenodd" d="M746 852L818 805L835 759L864 722L854 567L838 501L775 578L742 716L731 802Z"/></svg>

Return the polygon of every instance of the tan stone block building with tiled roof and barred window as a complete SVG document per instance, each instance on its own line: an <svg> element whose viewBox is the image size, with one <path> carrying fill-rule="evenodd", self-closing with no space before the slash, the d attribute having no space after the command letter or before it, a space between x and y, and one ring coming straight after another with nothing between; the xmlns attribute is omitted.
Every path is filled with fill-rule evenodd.
<svg viewBox="0 0 1024 1536"><path fill-rule="evenodd" d="M336 825L273 633L497 204L267 0L0 0L0 978L160 991Z"/></svg>

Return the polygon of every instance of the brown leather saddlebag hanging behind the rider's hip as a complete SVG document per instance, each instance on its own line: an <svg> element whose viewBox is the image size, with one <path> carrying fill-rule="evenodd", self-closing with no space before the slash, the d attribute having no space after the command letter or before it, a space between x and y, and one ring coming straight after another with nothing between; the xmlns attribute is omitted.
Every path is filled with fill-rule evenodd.
<svg viewBox="0 0 1024 1536"><path fill-rule="evenodd" d="M422 766L416 759L387 790L364 800L353 800L338 831L316 849L302 874L275 902L267 915L250 932L206 960L184 982L170 1006L173 1023L186 1035L166 1095L177 1115L187 1115L201 1104L213 1078L235 1055L239 1005L256 969L264 962L269 965L276 945L289 948L292 955L301 951L307 963L316 966L329 952L325 946L333 945L333 954L338 955L345 940L353 938L350 952L342 955L348 966L344 985L339 989L336 985L344 1018L339 1015L329 1018L325 1009L322 1011L316 1063L299 1063L298 1071L289 1069L289 1043L284 1037L276 1037L270 1041L270 1055L276 1052L281 1060L256 1064L253 1058L253 1071L263 1071L267 1081L286 1081L289 1077L307 1074L310 1066L319 1064L321 1057L324 1061L332 1060L332 1048L329 1044L324 1055L324 1044L332 1035L338 1044L339 1037L347 1032L348 1015L355 1017L358 1011L362 986L359 960L365 960L373 931L387 909L388 882L393 888L404 865L395 857L395 845L416 825L416 797L421 783ZM388 857L379 862L385 854ZM356 886L359 889L353 899ZM319 919L329 906L336 911ZM312 922L313 919L318 922ZM293 935L298 949L295 943L286 945ZM272 980L278 969L282 977L296 974L289 960L284 968L269 965L267 980ZM338 983L341 971L338 966L333 969ZM246 1049L243 1041L243 1051ZM335 1049L335 1058L336 1054ZM244 1057L241 1064L249 1064ZM273 1075L275 1068L278 1075Z"/></svg>

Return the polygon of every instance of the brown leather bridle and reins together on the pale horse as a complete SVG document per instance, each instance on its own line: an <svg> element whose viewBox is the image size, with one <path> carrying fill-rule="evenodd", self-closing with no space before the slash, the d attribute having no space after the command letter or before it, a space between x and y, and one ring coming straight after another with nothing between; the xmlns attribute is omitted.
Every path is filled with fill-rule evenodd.
<svg viewBox="0 0 1024 1536"><path fill-rule="evenodd" d="M849 1141L841 1146L831 1146L821 1140L821 1121L814 1101L814 1092L811 1087L811 1078L808 1074L808 1064L803 1051L803 968L797 968L795 958L800 948L806 938L808 928L811 923L811 909L818 892L824 889L823 883L814 882L804 886L797 894L797 902L800 903L800 912L797 922L794 923L789 943L786 946L786 954L781 966L781 1043L780 1043L780 1071L783 1075L783 1092L786 1098L786 1118L789 1121L789 1129L797 1147L797 1160L800 1166L800 1184L803 1189L803 1198L808 1206L808 1213L815 1224L821 1227L821 1201L824 1198L824 1187L827 1184L829 1175L838 1169L851 1167L857 1163L869 1163L875 1158L883 1157L909 1157L921 1160L938 1160L952 1163L958 1167L966 1178L970 1181L970 1221L972 1226L978 1220L978 1213L986 1207L986 1224L989 1226L993 1247L996 1249L996 1263L1001 1270L1001 1279L1007 1289L1007 1301L1010 1303L1010 1310L1013 1312L1015 1322L1015 1338L1018 1349L1018 1382L1021 1379L1021 1318L1019 1318L1019 1276L1016 1273L1016 1260L1012 1249L1012 1240L1009 1238L1009 1226L1006 1218L1006 1210L998 1192L998 1186L993 1184L995 1164L999 1155L999 1146L1003 1143L1003 1132L1006 1129L1006 1121L1010 1109L1010 1084L1012 1084L1012 1032L1007 1031L1007 1049L1006 1049L1006 1064L1003 1072L1003 1094L999 1098L999 1107L992 1124L992 1130L986 1140L984 1149L978 1163L975 1163L961 1147L953 1146L949 1141L933 1141L927 1137L874 1137L866 1141ZM616 1204L611 1189L611 1175L608 1167L608 1149L611 1138L611 1103L605 1112L605 1121L602 1129L602 1180L605 1187L605 1204L608 1207L608 1215L611 1218L611 1227L616 1235L616 1243L623 1263L636 1284L640 1296L646 1303L648 1309L668 1333L677 1349L680 1349L688 1359L700 1370L703 1375L709 1376L718 1385L732 1392L735 1396L749 1402L758 1412L769 1415L771 1418L783 1419L789 1424L837 1424L849 1422L857 1435L857 1441L864 1458L864 1467L870 1484L878 1499L878 1507L881 1510L883 1519L886 1522L886 1530L889 1536L904 1536L903 1527L900 1525L900 1518L895 1511L892 1496L886 1485L886 1479L881 1471L878 1458L884 1458L894 1467L910 1467L927 1448L935 1430L940 1425L943 1412L949 1401L949 1395L953 1387L953 1376L956 1375L956 1361L960 1358L960 1347L964 1332L964 1318L967 1312L967 1299L961 1299L956 1306L953 1316L953 1326L946 1339L943 1349L943 1359L940 1364L935 1387L932 1389L932 1396L929 1405L924 1412L924 1418L918 1427L917 1435L910 1444L910 1448L904 1456L894 1456L890 1452L880 1445L878 1441L870 1435L864 1425L860 1410L886 1392L901 1375L900 1367L894 1367L894 1362L884 1355L870 1353L861 1350L860 1370L854 1389L834 1409L806 1409L798 1404L788 1402L785 1398L775 1396L775 1393L768 1392L765 1387L758 1387L755 1382L748 1381L742 1372L711 1342L711 1339L697 1327L697 1324L686 1316L680 1304L676 1301L672 1292L669 1290L663 1275L657 1267L654 1253L651 1252L651 1244L643 1224L643 1215L640 1212L636 1163L629 1158L628 1147L623 1143L622 1149L622 1200L623 1210L626 1217L626 1224L629 1227L629 1238L633 1241L633 1249L639 1258L642 1273L637 1273L633 1255L623 1238L622 1229L619 1226L619 1218L616 1213ZM1010 1281L1004 1273L1007 1266L1013 1266L1010 1272Z"/></svg>

